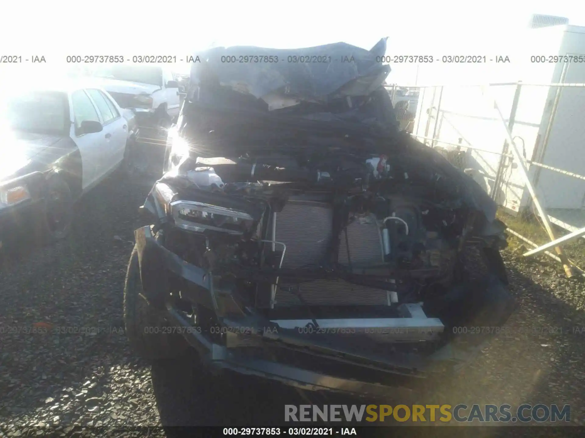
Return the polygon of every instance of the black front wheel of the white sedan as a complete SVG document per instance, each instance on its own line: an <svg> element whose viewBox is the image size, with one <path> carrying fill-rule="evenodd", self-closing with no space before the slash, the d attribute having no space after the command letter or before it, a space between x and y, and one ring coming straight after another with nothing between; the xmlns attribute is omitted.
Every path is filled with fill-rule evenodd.
<svg viewBox="0 0 585 438"><path fill-rule="evenodd" d="M51 243L67 237L73 221L71 189L60 176L52 176L45 187L42 214L39 218L39 238Z"/></svg>

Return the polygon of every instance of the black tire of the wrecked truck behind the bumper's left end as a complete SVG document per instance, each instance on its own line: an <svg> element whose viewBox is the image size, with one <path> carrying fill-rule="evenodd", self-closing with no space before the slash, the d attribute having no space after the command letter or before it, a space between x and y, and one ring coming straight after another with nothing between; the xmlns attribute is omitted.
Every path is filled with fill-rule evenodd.
<svg viewBox="0 0 585 438"><path fill-rule="evenodd" d="M179 334L169 332L164 314L150 306L142 294L136 246L132 250L124 286L124 324L130 346L144 359L170 359L184 354L189 345Z"/></svg>

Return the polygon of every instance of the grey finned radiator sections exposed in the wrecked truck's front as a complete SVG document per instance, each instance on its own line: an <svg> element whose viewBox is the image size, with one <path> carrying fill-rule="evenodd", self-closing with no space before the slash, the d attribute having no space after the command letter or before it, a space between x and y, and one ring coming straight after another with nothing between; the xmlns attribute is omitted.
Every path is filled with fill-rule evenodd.
<svg viewBox="0 0 585 438"><path fill-rule="evenodd" d="M287 245L283 268L314 266L325 256L332 235L333 209L315 201L290 200L276 214L276 241ZM353 265L383 262L383 247L376 222L355 221L347 227L349 255ZM345 232L339 245L339 263L347 265ZM298 295L302 297L302 301ZM304 301L304 303L303 303ZM314 280L307 283L279 281L274 307L296 305L389 305L386 290L347 283Z"/></svg>

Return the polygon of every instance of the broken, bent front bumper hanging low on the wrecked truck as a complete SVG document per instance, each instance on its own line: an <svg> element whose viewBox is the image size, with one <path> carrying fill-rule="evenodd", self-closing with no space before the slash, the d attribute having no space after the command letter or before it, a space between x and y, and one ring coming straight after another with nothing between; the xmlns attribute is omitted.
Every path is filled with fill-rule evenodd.
<svg viewBox="0 0 585 438"><path fill-rule="evenodd" d="M166 308L169 317L182 328L185 339L211 367L269 378L305 390L372 397L383 397L390 392L408 397L428 377L457 371L480 351L486 340L479 336L473 342L453 338L452 342L428 353L417 353L421 351L417 348L421 342L403 343L401 349L390 352L388 344L364 342L365 338L352 343L347 336L308 336L294 329L294 325L287 328L278 321L254 314L240 321L219 317L218 331L225 336L222 343L214 342L217 338L194 329L185 314L165 304L164 298L172 273L206 295L201 301L207 300L209 308L218 309L211 276L164 248L150 227L139 228L135 237L144 296L154 307ZM503 324L514 310L514 300L505 285L491 279L484 295L479 319L474 319L472 324Z"/></svg>

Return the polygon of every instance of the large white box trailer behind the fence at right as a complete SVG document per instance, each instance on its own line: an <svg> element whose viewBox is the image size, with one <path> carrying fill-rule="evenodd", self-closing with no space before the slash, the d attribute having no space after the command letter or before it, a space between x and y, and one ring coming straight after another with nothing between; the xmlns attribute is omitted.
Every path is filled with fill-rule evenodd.
<svg viewBox="0 0 585 438"><path fill-rule="evenodd" d="M501 121L479 87L461 84L508 83L490 90L504 116L510 117L507 122L524 157L585 175L585 88L528 85L585 83L585 27L525 30L498 52L488 54L494 61L484 64L423 69L426 83L453 86L421 88L414 134L447 149L457 144L462 150L473 148L467 150L463 166L474 169L474 178L490 193L498 178L494 199L518 212L529 206L530 197L517 164L501 156ZM509 63L495 62L506 52ZM518 88L518 81L526 85ZM585 180L534 165L529 174L554 223L572 231L585 226Z"/></svg>

